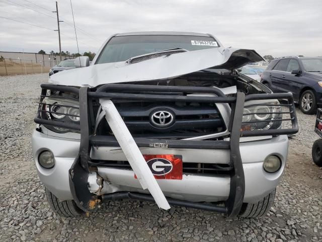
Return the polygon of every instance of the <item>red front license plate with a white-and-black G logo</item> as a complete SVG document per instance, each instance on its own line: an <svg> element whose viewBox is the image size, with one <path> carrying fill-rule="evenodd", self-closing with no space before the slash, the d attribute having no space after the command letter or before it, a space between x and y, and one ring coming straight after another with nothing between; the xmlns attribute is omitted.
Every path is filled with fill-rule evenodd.
<svg viewBox="0 0 322 242"><path fill-rule="evenodd" d="M155 179L182 180L182 156L143 155ZM134 176L136 178L136 175Z"/></svg>

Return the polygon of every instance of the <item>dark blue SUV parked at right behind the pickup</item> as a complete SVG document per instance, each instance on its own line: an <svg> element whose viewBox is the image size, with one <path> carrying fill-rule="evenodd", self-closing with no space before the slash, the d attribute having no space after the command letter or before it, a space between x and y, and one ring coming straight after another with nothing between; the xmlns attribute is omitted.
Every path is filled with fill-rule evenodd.
<svg viewBox="0 0 322 242"><path fill-rule="evenodd" d="M287 56L274 59L261 76L273 92L292 92L305 114L322 104L322 57Z"/></svg>

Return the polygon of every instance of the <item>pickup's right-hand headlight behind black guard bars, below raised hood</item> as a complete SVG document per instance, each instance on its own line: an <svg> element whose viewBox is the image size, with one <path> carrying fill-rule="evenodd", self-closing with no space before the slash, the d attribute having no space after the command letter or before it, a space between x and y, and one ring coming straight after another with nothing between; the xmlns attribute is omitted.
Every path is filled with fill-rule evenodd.
<svg viewBox="0 0 322 242"><path fill-rule="evenodd" d="M277 100L245 102L242 131L280 129L282 110Z"/></svg>

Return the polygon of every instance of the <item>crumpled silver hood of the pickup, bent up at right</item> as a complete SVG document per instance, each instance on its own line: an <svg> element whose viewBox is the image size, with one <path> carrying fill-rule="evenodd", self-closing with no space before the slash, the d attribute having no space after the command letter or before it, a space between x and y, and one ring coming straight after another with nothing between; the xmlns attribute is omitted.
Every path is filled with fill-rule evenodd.
<svg viewBox="0 0 322 242"><path fill-rule="evenodd" d="M53 84L96 87L101 84L171 79L207 68L233 70L249 63L265 61L255 50L209 48L148 59L98 64L52 75Z"/></svg>

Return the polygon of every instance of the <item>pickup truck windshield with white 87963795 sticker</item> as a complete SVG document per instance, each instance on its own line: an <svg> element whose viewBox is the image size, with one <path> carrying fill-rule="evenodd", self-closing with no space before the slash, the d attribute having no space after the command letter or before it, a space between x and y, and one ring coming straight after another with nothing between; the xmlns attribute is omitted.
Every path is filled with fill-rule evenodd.
<svg viewBox="0 0 322 242"><path fill-rule="evenodd" d="M105 45L96 64L124 62L127 59L160 50L183 48L199 50L217 48L212 37L190 35L132 35L113 37Z"/></svg>

